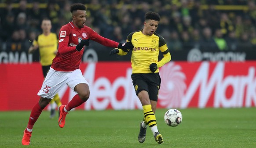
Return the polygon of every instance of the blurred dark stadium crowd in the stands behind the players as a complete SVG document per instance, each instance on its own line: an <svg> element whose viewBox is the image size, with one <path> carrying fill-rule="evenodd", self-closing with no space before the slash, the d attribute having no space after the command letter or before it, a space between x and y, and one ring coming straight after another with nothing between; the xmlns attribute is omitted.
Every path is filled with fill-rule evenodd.
<svg viewBox="0 0 256 148"><path fill-rule="evenodd" d="M72 20L73 3L87 6L86 25L117 42L143 28L145 12L156 11L157 32L170 50L256 47L255 0L0 0L0 51L27 51L43 18L50 18L52 32L59 34Z"/></svg>

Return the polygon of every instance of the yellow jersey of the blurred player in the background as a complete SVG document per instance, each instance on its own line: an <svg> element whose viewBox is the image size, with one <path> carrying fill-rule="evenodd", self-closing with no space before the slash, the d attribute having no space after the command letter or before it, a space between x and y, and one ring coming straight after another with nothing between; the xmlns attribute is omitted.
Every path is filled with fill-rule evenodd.
<svg viewBox="0 0 256 148"><path fill-rule="evenodd" d="M58 39L56 33L50 33L48 36L40 34L33 41L33 45L38 45L40 53L40 63L42 66L51 65L55 52L58 49Z"/></svg>

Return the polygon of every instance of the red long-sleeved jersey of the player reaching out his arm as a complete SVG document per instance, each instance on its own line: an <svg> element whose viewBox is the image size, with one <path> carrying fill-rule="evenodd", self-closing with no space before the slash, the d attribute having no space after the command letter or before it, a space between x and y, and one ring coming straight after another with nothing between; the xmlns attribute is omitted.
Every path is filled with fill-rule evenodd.
<svg viewBox="0 0 256 148"><path fill-rule="evenodd" d="M63 25L59 32L59 48L52 60L51 68L61 72L71 72L79 69L83 56L84 47L81 51L76 50L80 40L90 39L107 47L118 47L118 43L100 36L90 27L77 28L73 22Z"/></svg>

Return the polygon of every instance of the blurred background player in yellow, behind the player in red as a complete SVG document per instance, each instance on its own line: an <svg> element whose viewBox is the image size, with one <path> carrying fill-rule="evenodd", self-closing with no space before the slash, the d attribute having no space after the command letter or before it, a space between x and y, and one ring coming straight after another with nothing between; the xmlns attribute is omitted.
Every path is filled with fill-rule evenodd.
<svg viewBox="0 0 256 148"><path fill-rule="evenodd" d="M33 53L35 50L39 49L40 63L42 65L45 78L51 67L52 59L55 58L55 55L57 54L58 38L55 33L51 32L50 19L44 19L42 21L41 28L43 33L33 40L32 45L29 47L29 53ZM58 105L58 107L62 105L59 94L56 94L50 102L51 119L55 116L54 102Z"/></svg>

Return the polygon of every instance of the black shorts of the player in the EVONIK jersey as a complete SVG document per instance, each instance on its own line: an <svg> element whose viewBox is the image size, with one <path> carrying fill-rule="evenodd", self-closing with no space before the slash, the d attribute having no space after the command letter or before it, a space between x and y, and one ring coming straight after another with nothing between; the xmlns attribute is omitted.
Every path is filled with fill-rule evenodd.
<svg viewBox="0 0 256 148"><path fill-rule="evenodd" d="M150 100L157 101L158 93L161 84L159 73L133 73L132 83L135 88L136 95L139 92L146 90L149 94Z"/></svg>

